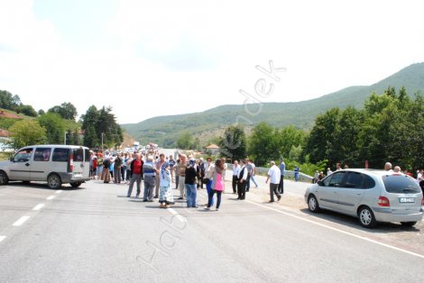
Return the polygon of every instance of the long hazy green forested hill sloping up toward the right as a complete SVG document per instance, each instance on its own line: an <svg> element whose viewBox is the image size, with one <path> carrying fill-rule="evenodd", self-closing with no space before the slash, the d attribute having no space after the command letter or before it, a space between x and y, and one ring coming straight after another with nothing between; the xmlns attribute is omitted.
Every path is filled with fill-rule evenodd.
<svg viewBox="0 0 424 283"><path fill-rule="evenodd" d="M254 116L246 114L244 105L221 105L202 113L158 116L140 123L122 124L122 127L142 144L156 142L161 146L172 145L183 132L192 133L205 141L218 135L227 125L235 123L238 115L253 124L264 121L278 127L292 124L309 129L318 114L333 107L362 107L364 100L373 92L383 94L388 87L405 87L410 96L418 91L424 93L424 63L403 68L372 86L346 87L335 93L301 102L249 105L252 112L259 109L256 107L263 107L260 114ZM239 122L245 123L246 120L240 119Z"/></svg>

